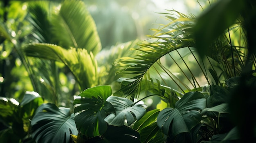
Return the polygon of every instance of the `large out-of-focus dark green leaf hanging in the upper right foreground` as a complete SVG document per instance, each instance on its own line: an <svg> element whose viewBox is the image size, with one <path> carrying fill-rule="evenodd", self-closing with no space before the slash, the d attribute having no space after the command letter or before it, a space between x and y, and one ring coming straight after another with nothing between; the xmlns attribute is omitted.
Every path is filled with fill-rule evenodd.
<svg viewBox="0 0 256 143"><path fill-rule="evenodd" d="M219 0L199 16L194 34L201 57L207 54L210 44L234 24L244 6L244 0Z"/></svg>

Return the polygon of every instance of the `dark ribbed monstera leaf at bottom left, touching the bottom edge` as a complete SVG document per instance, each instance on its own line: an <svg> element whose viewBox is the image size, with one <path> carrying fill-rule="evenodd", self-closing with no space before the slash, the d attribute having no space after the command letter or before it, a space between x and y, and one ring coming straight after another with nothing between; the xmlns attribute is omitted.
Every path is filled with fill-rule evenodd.
<svg viewBox="0 0 256 143"><path fill-rule="evenodd" d="M31 128L37 143L69 143L70 134L78 134L70 109L58 108L52 103L37 108Z"/></svg>

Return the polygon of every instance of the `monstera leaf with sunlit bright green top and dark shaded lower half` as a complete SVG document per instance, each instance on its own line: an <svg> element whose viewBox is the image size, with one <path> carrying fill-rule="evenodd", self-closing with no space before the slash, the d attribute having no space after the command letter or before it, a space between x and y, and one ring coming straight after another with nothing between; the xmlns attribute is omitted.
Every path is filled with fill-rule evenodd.
<svg viewBox="0 0 256 143"><path fill-rule="evenodd" d="M112 94L108 85L95 86L81 92L75 99L74 108L76 128L81 134L88 137L102 135L107 130L107 123L104 121L107 112L115 112L114 107L106 99Z"/></svg>

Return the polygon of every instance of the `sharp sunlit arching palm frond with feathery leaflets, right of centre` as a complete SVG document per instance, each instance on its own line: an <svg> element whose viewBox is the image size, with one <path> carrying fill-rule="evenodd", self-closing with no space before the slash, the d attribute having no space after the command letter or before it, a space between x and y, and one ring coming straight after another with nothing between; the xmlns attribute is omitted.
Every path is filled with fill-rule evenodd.
<svg viewBox="0 0 256 143"><path fill-rule="evenodd" d="M135 96L137 96L140 83L151 68L155 69L155 73L164 72L168 78L173 81L177 80L175 75L171 75L171 72L161 64L160 58L177 49L195 46L191 36L191 28L195 22L194 18L177 11L172 12L176 12L177 15L168 13L167 18L171 22L162 25L160 29L152 29L155 34L149 36L149 40L138 43L138 47L132 48L131 50L135 50L133 55L122 57L115 61L115 63L119 64L117 74L132 75L122 81L124 87L120 90L126 95L131 95L132 100L137 98ZM161 74L158 75L161 76ZM177 82L176 84L178 85ZM179 88L182 89L182 87Z"/></svg>

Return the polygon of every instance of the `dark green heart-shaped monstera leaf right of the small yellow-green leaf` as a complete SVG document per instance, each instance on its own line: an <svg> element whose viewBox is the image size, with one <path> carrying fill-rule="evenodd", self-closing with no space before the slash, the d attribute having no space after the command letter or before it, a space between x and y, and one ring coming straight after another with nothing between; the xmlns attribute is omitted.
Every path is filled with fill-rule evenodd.
<svg viewBox="0 0 256 143"><path fill-rule="evenodd" d="M176 136L189 132L201 120L206 107L204 95L200 92L188 92L176 102L175 108L165 108L159 112L157 125L166 135Z"/></svg>

